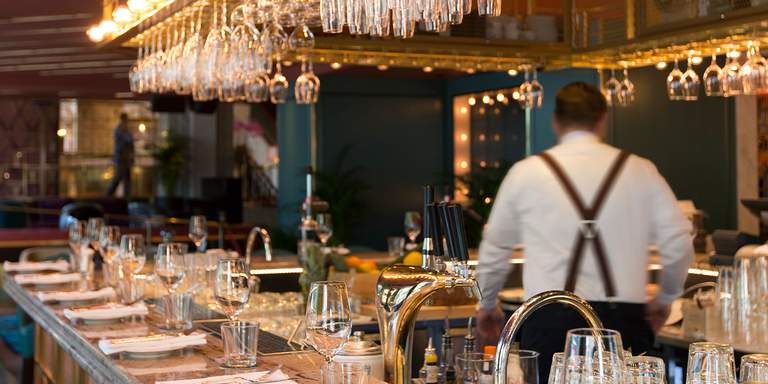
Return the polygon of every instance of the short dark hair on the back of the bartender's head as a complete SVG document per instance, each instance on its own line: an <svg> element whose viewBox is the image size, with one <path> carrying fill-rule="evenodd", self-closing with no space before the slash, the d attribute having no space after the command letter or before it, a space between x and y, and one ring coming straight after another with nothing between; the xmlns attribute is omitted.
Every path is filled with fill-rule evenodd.
<svg viewBox="0 0 768 384"><path fill-rule="evenodd" d="M566 85L555 96L555 118L564 126L594 128L607 110L602 92L583 81Z"/></svg>

